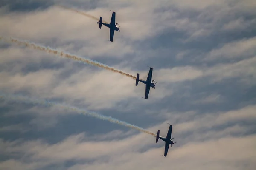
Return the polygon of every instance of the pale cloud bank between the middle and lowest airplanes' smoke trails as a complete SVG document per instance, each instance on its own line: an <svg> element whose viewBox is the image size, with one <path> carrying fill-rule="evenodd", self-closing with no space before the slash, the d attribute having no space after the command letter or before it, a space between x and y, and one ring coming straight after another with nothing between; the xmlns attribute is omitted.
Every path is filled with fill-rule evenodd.
<svg viewBox="0 0 256 170"><path fill-rule="evenodd" d="M29 54L30 51L26 48L21 50L13 47L3 50L4 67L0 75L4 81L0 82L1 91L9 93L26 91L32 96L48 99L61 97L67 103L87 105L88 109L112 108L120 101L138 97L138 92L141 92L141 96L145 95L145 85L136 87L133 79L111 71L97 71L85 67L81 71L73 71L70 76L63 77L67 71L73 70L75 63L66 62L68 60L61 60L60 57L52 55L45 56L42 52L37 54L31 51L32 54ZM12 57L8 58L9 55ZM49 64L56 64L61 60L64 62L64 67L23 73L28 65L40 65L44 58L48 59ZM15 67L10 68L8 65ZM125 70L130 69L125 68ZM160 84L157 87L159 89L151 90L150 94L155 97L154 101L172 94L166 85Z"/></svg>

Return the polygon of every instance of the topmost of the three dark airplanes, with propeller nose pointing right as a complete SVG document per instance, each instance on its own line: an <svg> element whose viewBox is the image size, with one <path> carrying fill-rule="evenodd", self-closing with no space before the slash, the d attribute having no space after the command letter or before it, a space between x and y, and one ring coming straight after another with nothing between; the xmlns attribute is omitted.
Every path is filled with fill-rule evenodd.
<svg viewBox="0 0 256 170"><path fill-rule="evenodd" d="M106 27L109 28L109 33L110 33L110 41L113 42L113 38L114 38L114 33L115 31L120 31L120 26L117 27L116 25L118 25L118 23L116 23L116 12L112 11L112 17L111 17L111 21L110 24L109 23L103 23L102 22L102 17L99 18L99 21L97 22L97 24L99 24L99 29L101 29L102 24Z"/></svg>

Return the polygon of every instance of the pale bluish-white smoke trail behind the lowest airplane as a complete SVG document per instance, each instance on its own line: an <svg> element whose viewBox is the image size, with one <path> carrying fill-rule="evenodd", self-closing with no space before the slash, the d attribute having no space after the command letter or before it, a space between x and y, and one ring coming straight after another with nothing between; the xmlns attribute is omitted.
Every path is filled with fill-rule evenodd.
<svg viewBox="0 0 256 170"><path fill-rule="evenodd" d="M69 105L63 105L60 103L55 103L55 102L48 102L46 100L41 100L41 99L32 99L26 96L17 96L17 95L4 95L4 94L0 94L0 99L4 99L4 100L11 100L11 101L20 101L20 102L25 102L28 104L37 104L37 105L44 105L44 106L52 106L52 107L58 107L58 108L63 108L65 110L69 110L69 111L74 111L83 115L87 115L87 116L91 116L91 117L95 117L101 120L107 120L111 123L116 123L122 126L126 126L126 127L130 127L131 129L136 129L139 130L141 132L144 133L148 133L150 135L156 135L153 132L150 132L148 130L145 130L141 127L138 127L136 125L132 125L130 123L115 119L111 116L104 116L102 114L96 113L96 112L92 112L92 111L86 111L84 109L80 109L80 108L76 108L74 106L69 106Z"/></svg>

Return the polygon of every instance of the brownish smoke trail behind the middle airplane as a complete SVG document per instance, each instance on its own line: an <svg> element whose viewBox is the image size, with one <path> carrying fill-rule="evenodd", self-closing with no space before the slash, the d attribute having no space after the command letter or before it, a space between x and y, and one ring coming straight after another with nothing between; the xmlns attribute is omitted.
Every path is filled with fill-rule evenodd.
<svg viewBox="0 0 256 170"><path fill-rule="evenodd" d="M55 50L55 49L52 49L52 48L49 48L49 47L44 47L44 46L41 46L41 45L37 45L37 44L32 43L32 42L26 42L26 41L22 41L22 40L17 40L17 39L14 39L12 37L10 37L9 39L0 37L0 40L1 39L6 40L6 41L15 42L18 45L25 45L26 47L29 47L29 48L32 48L32 49L35 49L35 50L45 51L45 52L47 52L49 54L55 54L55 55L58 55L58 56L61 56L61 57L66 57L66 58L73 59L73 60L76 60L76 61L79 61L79 62L87 63L87 64L90 64L90 65L94 65L94 66L97 66L97 67L100 67L100 68L104 68L104 69L109 70L109 71L113 71L115 73L119 73L119 74L125 75L127 77L131 77L133 79L136 79L136 76L133 76L133 75L128 74L128 73L125 73L125 72L123 72L121 70L118 70L116 68L110 67L108 65L105 65L105 64L102 64L100 62L96 62L96 61L93 61L93 60L90 60L90 59L77 57L77 56L72 55L72 54L67 54L67 53L65 53L63 51L58 51L58 50Z"/></svg>

